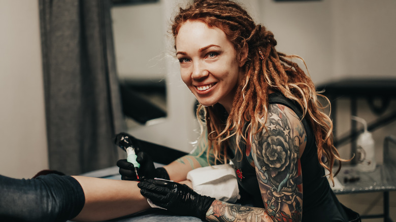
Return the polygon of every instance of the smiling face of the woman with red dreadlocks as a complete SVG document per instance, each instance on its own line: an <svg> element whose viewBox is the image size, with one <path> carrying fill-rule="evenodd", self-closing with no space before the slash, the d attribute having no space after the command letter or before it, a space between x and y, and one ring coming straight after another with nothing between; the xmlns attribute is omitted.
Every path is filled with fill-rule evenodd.
<svg viewBox="0 0 396 222"><path fill-rule="evenodd" d="M232 108L242 62L225 33L201 21L186 21L176 36L183 82L205 106Z"/></svg>

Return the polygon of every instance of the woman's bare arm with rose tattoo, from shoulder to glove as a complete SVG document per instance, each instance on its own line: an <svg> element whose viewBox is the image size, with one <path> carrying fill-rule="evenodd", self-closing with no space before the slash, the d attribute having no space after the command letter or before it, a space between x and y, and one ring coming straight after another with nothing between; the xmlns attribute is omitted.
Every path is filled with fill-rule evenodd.
<svg viewBox="0 0 396 222"><path fill-rule="evenodd" d="M265 208L214 201L209 221L301 221L303 184L300 156L306 145L304 127L288 107L271 104L268 131L255 136L252 156ZM259 194L258 194L259 195Z"/></svg>

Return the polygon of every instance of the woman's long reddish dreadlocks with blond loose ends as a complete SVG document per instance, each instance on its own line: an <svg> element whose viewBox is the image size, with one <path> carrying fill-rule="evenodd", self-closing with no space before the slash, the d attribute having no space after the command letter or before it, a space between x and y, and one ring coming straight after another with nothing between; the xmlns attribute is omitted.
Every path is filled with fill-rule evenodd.
<svg viewBox="0 0 396 222"><path fill-rule="evenodd" d="M256 25L247 11L239 4L228 0L197 0L186 9L180 8L172 24L172 34L176 41L178 31L187 20L205 22L209 27L217 27L224 31L227 39L234 45L237 54L245 45L248 46L248 59L244 74L240 79L237 92L233 100L233 107L228 117L223 118L218 105L197 108L197 117L201 123L201 136L208 132L208 142L205 144L208 151L213 149L215 162L226 162L226 140L235 135L239 140L246 141L245 124L250 128L250 135L260 135L268 114L268 92L279 91L285 97L297 102L303 110L304 117L311 125L316 145L318 147L319 163L329 172L332 172L335 160L341 159L333 145L333 124L331 119L322 112L325 108L319 97L328 99L316 92L309 76L292 62L292 58L304 60L296 55L286 55L275 50L277 45L274 34L266 27ZM306 64L304 62L305 68ZM308 72L308 71L307 71ZM200 141L206 141L200 139ZM238 145L238 149L240 147ZM207 152L209 155L210 152ZM209 158L209 156L208 156ZM330 173L333 180L333 174Z"/></svg>

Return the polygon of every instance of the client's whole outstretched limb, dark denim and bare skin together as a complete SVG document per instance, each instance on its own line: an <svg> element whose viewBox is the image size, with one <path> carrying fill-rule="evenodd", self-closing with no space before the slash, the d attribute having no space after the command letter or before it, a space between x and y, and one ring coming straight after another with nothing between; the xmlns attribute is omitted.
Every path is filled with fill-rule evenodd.
<svg viewBox="0 0 396 222"><path fill-rule="evenodd" d="M150 208L135 181L0 175L0 221L103 221Z"/></svg>

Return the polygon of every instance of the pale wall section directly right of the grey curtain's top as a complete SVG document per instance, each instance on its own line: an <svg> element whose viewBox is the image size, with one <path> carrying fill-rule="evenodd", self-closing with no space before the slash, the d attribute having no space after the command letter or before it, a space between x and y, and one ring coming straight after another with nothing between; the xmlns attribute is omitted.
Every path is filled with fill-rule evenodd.
<svg viewBox="0 0 396 222"><path fill-rule="evenodd" d="M167 36L162 31L161 10L160 2L111 9L120 79L160 81L165 78L163 40Z"/></svg>

